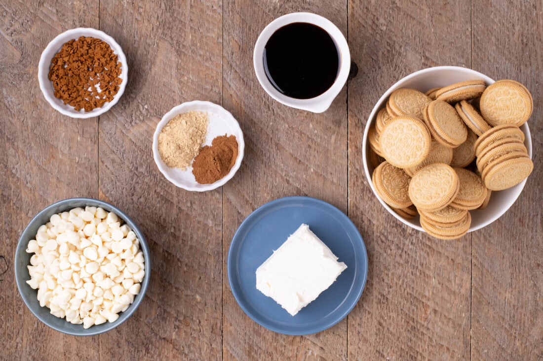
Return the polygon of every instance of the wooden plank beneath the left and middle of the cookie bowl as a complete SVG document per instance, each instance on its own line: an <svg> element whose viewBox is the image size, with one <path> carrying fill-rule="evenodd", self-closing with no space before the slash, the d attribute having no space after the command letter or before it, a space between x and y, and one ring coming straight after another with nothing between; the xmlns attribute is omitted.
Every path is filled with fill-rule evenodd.
<svg viewBox="0 0 543 361"><path fill-rule="evenodd" d="M397 221L372 194L361 159L366 120L389 86L426 67L470 67L469 4L349 4L359 67L349 84L349 216L369 255L368 283L349 315L349 359L470 356L470 235L440 241Z"/></svg>

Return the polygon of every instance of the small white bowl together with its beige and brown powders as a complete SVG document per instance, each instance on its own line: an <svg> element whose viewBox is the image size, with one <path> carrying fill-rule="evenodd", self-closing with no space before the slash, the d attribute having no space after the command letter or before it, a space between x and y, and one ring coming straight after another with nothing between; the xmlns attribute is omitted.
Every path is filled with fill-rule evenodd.
<svg viewBox="0 0 543 361"><path fill-rule="evenodd" d="M189 101L175 106L156 126L153 157L160 172L188 191L208 191L228 182L243 159L237 120L222 106Z"/></svg>

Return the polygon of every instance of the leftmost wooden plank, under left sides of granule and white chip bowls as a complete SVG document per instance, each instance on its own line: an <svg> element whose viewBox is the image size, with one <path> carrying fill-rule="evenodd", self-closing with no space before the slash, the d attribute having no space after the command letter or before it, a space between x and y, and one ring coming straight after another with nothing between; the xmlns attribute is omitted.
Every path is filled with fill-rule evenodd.
<svg viewBox="0 0 543 361"><path fill-rule="evenodd" d="M0 276L0 358L96 359L98 336L67 336L31 314L18 294L13 260L18 237L38 211L98 193L97 119L61 115L37 83L42 50L62 31L98 27L98 1L0 7L0 255L8 265Z"/></svg>

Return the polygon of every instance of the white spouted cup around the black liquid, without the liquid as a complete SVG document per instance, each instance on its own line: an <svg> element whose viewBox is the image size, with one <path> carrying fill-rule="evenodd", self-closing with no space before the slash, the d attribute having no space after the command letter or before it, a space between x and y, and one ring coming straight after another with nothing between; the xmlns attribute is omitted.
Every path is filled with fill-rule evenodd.
<svg viewBox="0 0 543 361"><path fill-rule="evenodd" d="M264 48L271 35L279 28L292 23L310 23L324 29L332 38L339 51L339 72L336 81L323 94L310 99L296 99L286 96L279 92L268 80L264 72ZM339 94L347 78L351 68L351 53L349 52L349 44L343 36L341 30L336 27L330 20L320 15L312 14L311 12L293 12L292 14L283 15L276 18L268 24L262 33L258 36L255 44L255 50L252 54L252 62L255 67L256 78L260 85L271 98L285 104L289 107L298 108L313 113L322 113L326 111L332 104L332 101Z"/></svg>

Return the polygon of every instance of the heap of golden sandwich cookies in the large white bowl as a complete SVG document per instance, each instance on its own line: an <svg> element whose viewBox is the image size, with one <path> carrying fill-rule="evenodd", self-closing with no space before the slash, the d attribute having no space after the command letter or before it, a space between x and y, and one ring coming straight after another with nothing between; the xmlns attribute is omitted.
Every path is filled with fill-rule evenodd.
<svg viewBox="0 0 543 361"><path fill-rule="evenodd" d="M532 172L519 130L532 108L531 94L513 80L463 81L426 94L397 89L368 131L377 194L406 219L420 214L434 237L463 236L470 210Z"/></svg>

